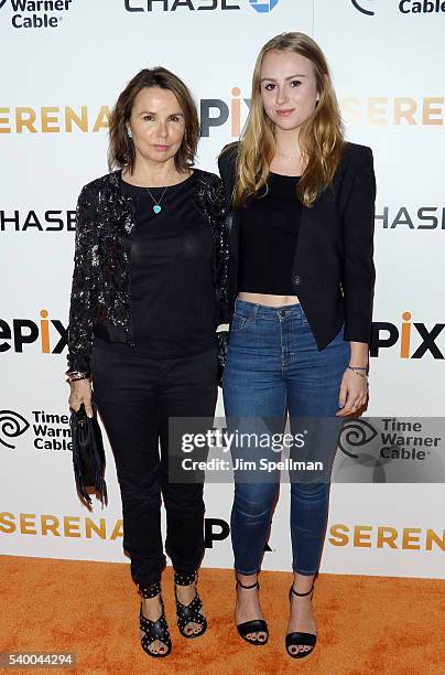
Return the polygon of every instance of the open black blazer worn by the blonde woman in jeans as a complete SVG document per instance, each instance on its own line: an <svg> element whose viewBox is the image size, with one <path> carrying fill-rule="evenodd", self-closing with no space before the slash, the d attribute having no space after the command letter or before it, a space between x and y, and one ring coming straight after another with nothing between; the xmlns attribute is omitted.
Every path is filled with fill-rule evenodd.
<svg viewBox="0 0 445 675"><path fill-rule="evenodd" d="M218 160L231 203L239 143ZM372 151L346 143L333 183L311 207L303 206L292 268L299 297L318 350L345 324L344 339L370 343L376 271L372 261L376 179ZM238 292L239 211L232 208L229 238L229 307Z"/></svg>

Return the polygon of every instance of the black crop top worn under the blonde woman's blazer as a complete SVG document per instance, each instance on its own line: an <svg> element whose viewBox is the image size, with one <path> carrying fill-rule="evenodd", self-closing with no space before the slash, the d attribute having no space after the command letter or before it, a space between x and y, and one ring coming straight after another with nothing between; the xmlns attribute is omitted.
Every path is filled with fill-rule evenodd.
<svg viewBox="0 0 445 675"><path fill-rule="evenodd" d="M300 176L270 173L264 196L251 197L240 212L238 291L294 296L292 266L302 204Z"/></svg>

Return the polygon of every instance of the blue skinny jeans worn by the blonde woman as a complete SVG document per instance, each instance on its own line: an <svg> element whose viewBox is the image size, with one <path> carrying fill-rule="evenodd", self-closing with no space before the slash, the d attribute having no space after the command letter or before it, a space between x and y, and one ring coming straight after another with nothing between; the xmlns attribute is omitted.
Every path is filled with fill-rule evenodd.
<svg viewBox="0 0 445 675"><path fill-rule="evenodd" d="M341 418L335 417L335 413L339 409L339 388L349 355L343 328L318 351L301 304L271 308L237 300L223 387L229 431L237 428L252 432L261 427L272 438L273 432L283 431L289 414L292 433L311 428L311 441L305 449L310 459L316 457L332 469L341 427ZM271 447L245 448L242 443L234 444L231 453L234 462L254 457L280 459ZM241 471L234 473L235 569L251 575L261 567L280 489L279 476L264 480L264 472L258 468L249 471L248 479L246 471L242 476ZM327 525L329 478L330 470L323 474L323 480L319 476L296 480L290 472L294 572L311 576L318 571Z"/></svg>

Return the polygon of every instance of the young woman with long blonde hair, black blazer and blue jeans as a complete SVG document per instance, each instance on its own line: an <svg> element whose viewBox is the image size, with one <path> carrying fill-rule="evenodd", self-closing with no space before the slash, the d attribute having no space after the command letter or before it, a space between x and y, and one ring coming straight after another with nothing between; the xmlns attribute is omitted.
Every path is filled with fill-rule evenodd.
<svg viewBox="0 0 445 675"><path fill-rule="evenodd" d="M271 430L270 420L278 429L289 414L291 425L295 418L340 425L368 397L376 183L371 150L344 140L328 65L311 38L281 34L263 46L243 136L225 148L219 169L232 204L229 424L268 418ZM325 435L317 447L315 433L311 449L327 464L338 427L330 429L330 442ZM236 622L254 645L269 635L258 572L279 490L260 473L247 481L236 472L231 514ZM316 643L312 594L328 494L329 475L291 476L292 657L307 656Z"/></svg>

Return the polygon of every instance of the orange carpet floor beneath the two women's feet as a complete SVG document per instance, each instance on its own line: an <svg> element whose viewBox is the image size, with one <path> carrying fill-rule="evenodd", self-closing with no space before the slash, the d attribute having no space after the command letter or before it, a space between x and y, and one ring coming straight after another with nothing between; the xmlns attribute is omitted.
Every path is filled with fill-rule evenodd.
<svg viewBox="0 0 445 675"><path fill-rule="evenodd" d="M321 575L314 594L318 642L311 656L293 661L283 646L290 574L262 572L261 598L271 635L265 647L252 647L234 626L231 571L200 571L209 629L202 639L187 641L174 623L167 568L163 594L173 652L155 661L138 642L139 596L128 565L0 556L0 652L74 652L76 668L52 668L57 673L445 673L441 580Z"/></svg>

